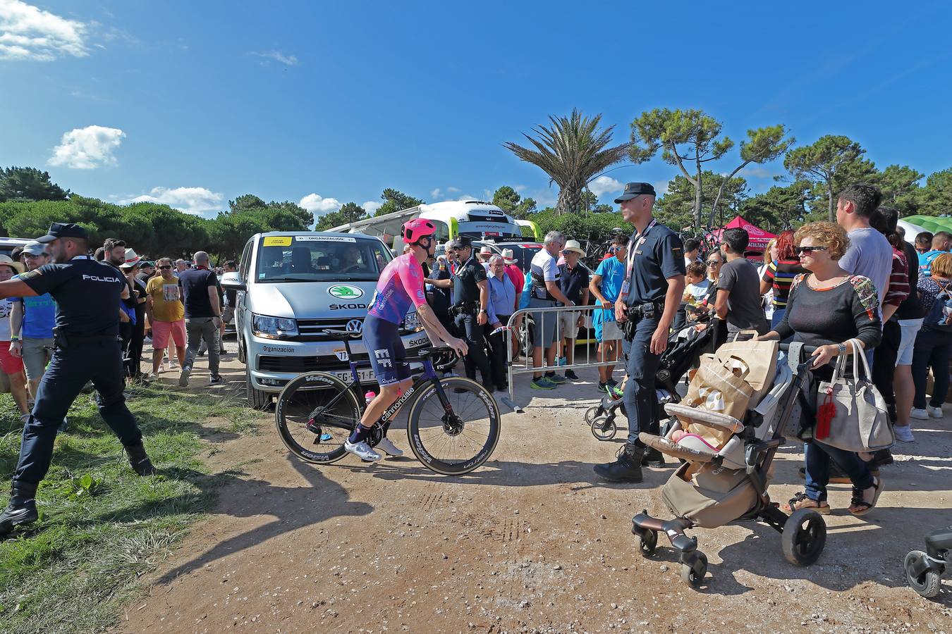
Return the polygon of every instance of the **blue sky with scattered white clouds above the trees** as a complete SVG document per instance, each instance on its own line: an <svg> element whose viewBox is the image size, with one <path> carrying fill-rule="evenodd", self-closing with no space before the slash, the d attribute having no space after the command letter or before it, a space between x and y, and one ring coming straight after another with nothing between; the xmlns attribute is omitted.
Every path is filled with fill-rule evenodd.
<svg viewBox="0 0 952 634"><path fill-rule="evenodd" d="M950 2L0 0L0 164L207 216L243 193L322 213L385 187L435 202L509 184L545 204L558 192L504 142L579 107L621 143L667 106L735 141L845 134L928 174L952 165L950 25ZM757 192L781 173L744 175Z"/></svg>

